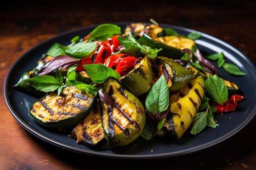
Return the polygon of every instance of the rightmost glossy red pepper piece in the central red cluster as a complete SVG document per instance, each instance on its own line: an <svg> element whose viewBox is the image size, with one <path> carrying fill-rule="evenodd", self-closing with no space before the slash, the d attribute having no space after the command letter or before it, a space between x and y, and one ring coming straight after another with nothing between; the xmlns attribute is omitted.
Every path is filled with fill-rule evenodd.
<svg viewBox="0 0 256 170"><path fill-rule="evenodd" d="M135 66L137 64L138 59L136 57L124 57L120 59L121 61L117 65L116 71L117 73L121 74L127 70L129 70L131 67Z"/></svg>

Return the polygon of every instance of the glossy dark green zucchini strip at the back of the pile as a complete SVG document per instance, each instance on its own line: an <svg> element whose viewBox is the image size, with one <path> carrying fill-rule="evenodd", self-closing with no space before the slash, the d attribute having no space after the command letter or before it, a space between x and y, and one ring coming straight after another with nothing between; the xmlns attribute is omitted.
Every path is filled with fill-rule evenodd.
<svg viewBox="0 0 256 170"><path fill-rule="evenodd" d="M157 42L156 40L153 40L149 35L145 33L139 39L139 43L150 46L153 49L162 48L162 50L157 53L157 55L159 56L164 56L164 57L173 58L173 59L180 59L184 54L181 49L168 46L166 44L163 44L162 42Z"/></svg>

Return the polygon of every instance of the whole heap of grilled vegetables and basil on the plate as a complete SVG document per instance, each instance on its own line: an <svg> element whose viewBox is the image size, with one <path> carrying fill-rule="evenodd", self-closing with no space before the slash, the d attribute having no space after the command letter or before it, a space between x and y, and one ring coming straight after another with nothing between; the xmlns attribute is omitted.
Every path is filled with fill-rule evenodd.
<svg viewBox="0 0 256 170"><path fill-rule="evenodd" d="M141 136L195 135L219 126L214 114L231 112L244 97L218 77L209 60L234 75L223 53L203 56L194 40L171 28L102 24L70 44L55 43L14 86L41 96L29 114L42 126L70 130L77 143L126 146ZM221 125L220 125L221 126Z"/></svg>

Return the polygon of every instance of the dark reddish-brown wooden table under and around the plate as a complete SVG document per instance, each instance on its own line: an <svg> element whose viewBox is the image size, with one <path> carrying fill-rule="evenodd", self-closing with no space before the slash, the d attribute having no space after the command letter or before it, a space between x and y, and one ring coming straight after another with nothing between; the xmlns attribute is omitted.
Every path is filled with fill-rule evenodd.
<svg viewBox="0 0 256 170"><path fill-rule="evenodd" d="M7 2L8 3L8 2ZM25 4L24 4L25 3ZM37 4L35 4L37 3ZM256 4L253 1L188 2L9 2L0 7L0 89L11 64L52 36L92 24L148 21L184 26L213 35L256 64ZM0 169L256 169L256 117L227 141L194 154L156 161L111 160L70 152L31 135L12 117L0 91Z"/></svg>

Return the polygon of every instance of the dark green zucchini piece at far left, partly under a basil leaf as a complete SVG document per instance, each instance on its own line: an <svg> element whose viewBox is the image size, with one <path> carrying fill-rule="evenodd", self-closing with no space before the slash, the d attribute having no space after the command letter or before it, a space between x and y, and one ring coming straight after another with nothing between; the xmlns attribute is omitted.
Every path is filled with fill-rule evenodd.
<svg viewBox="0 0 256 170"><path fill-rule="evenodd" d="M43 97L46 95L45 92L39 91L38 89L32 87L28 82L25 82L25 79L30 79L32 78L33 72L32 71L27 71L23 73L18 81L17 84L14 85L14 88L23 90L25 92L28 92L32 95L36 95L38 97Z"/></svg>

